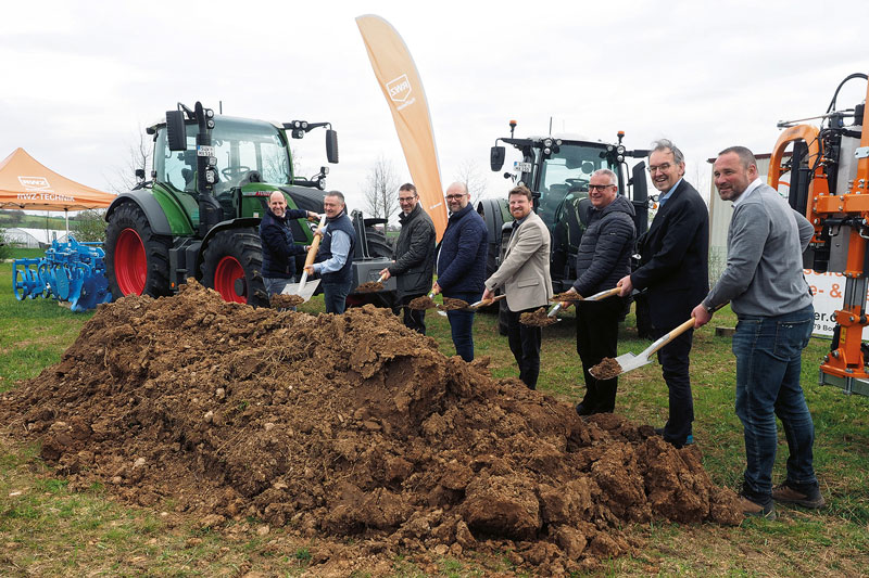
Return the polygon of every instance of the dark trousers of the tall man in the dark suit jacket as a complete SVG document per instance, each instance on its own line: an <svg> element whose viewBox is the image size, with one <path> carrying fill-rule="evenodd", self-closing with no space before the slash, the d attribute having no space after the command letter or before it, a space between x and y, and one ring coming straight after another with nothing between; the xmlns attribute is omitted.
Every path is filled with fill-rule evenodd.
<svg viewBox="0 0 869 578"><path fill-rule="evenodd" d="M677 326L653 327L652 336L657 339ZM691 424L694 422L694 399L691 397L691 377L688 374L693 339L694 330L690 329L658 350L658 362L670 400L670 416L664 425L664 439L677 448L681 448L692 434Z"/></svg>

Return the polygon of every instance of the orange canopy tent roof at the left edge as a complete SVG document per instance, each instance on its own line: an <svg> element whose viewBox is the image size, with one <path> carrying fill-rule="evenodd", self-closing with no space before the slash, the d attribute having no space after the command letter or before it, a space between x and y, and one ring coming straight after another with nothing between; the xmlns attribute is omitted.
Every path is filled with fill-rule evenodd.
<svg viewBox="0 0 869 578"><path fill-rule="evenodd" d="M58 175L27 154L15 151L0 163L0 208L68 211L108 207L115 195Z"/></svg>

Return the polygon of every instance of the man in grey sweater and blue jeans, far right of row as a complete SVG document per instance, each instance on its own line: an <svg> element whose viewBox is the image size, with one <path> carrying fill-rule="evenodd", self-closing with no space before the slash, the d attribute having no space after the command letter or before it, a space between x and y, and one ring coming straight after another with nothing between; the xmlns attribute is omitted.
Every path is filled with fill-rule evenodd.
<svg viewBox="0 0 869 578"><path fill-rule="evenodd" d="M821 508L824 500L811 463L815 424L799 387L802 351L815 322L802 254L815 229L758 178L748 149L721 151L714 176L718 196L733 202L727 268L691 314L700 327L716 307L730 301L739 318L733 355L746 460L741 506L747 516L770 519L776 517L773 501ZM790 455L788 477L773 488L776 415Z"/></svg>

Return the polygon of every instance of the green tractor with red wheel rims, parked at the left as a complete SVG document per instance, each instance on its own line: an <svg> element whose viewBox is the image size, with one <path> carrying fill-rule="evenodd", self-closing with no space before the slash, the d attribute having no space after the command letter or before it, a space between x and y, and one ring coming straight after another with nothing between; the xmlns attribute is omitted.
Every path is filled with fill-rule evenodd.
<svg viewBox="0 0 869 578"><path fill-rule="evenodd" d="M274 191L284 193L289 208L323 211L328 167L311 179L295 177L289 146L290 139L322 127L328 162L338 163L338 134L329 123L275 125L219 116L199 102L194 110L179 104L168 111L165 123L147 130L154 140L151 181L137 170L139 184L118 195L105 215L106 277L114 297L172 295L194 278L227 301L268 306L260 220ZM391 248L375 229L383 220L364 219L358 211L352 218L358 285L377 279ZM306 221L290 227L297 243L311 244ZM389 305L394 290L394 281L387 283L368 299Z"/></svg>

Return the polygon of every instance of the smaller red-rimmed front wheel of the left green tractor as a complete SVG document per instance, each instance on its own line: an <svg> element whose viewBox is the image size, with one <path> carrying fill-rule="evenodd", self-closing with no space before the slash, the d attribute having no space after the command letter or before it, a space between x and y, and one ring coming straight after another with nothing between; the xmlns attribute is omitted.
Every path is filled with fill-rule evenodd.
<svg viewBox="0 0 869 578"><path fill-rule="evenodd" d="M263 246L253 229L218 232L202 256L202 284L227 301L268 307L262 271Z"/></svg>

